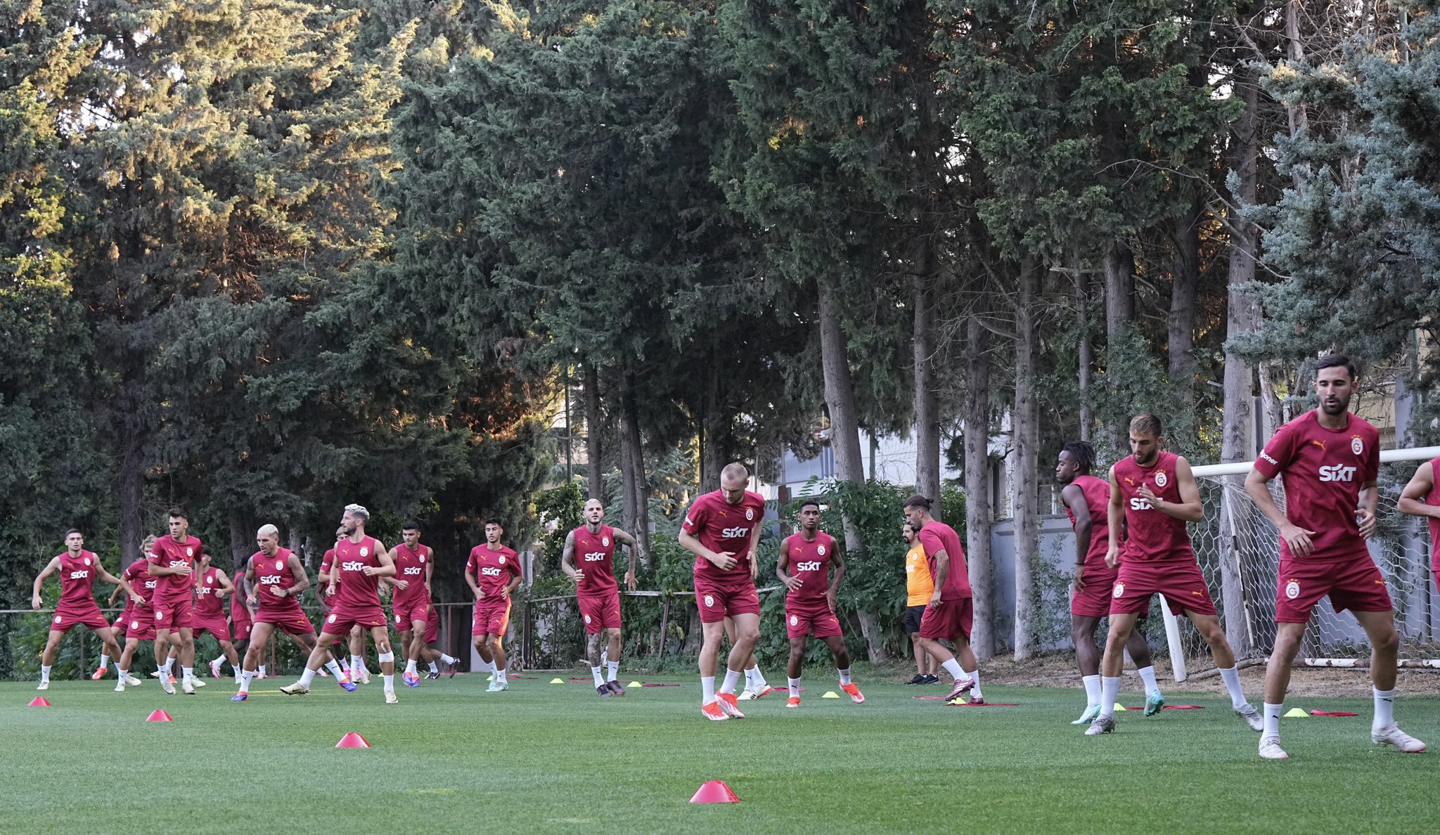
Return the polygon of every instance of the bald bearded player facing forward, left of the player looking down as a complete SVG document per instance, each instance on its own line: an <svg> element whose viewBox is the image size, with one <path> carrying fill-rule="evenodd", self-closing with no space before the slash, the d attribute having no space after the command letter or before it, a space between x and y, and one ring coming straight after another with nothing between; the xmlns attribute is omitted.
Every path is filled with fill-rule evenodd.
<svg viewBox="0 0 1440 835"><path fill-rule="evenodd" d="M625 695L625 688L615 680L621 669L621 589L615 582L615 546L624 544L631 551L629 570L625 572L625 587L635 590L635 560L639 557L639 541L628 533L605 524L605 504L598 498L585 502L585 524L564 536L564 550L560 554L560 570L575 580L575 596L585 620L585 658L590 662L595 677L595 692L602 697ZM576 551L580 564L576 564ZM609 642L605 654L605 671L600 668L600 635Z"/></svg>

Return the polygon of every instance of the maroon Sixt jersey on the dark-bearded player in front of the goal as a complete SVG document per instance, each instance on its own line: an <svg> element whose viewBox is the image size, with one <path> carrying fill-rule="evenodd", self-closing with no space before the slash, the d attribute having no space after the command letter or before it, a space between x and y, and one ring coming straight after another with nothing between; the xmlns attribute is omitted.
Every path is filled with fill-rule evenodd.
<svg viewBox="0 0 1440 835"><path fill-rule="evenodd" d="M1284 487L1284 518L1315 531L1305 560L1368 560L1355 510L1359 488L1380 475L1380 430L1346 413L1344 429L1326 429L1312 409L1282 426L1264 445L1256 469ZM1280 540L1280 556L1293 559Z"/></svg>

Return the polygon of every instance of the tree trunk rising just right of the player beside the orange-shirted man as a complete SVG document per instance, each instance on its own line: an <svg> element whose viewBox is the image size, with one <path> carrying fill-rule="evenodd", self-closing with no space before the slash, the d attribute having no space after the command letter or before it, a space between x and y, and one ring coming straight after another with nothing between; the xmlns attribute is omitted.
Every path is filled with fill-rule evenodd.
<svg viewBox="0 0 1440 835"><path fill-rule="evenodd" d="M981 311L965 320L965 551L975 590L971 648L979 659L995 655L991 595L989 356Z"/></svg>

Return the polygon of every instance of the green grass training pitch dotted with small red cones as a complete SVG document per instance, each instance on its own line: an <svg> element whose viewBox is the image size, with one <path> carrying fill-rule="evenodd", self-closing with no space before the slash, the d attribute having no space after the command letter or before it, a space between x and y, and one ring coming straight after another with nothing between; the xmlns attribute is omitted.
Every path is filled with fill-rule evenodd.
<svg viewBox="0 0 1440 835"><path fill-rule="evenodd" d="M562 674L566 675L567 674ZM1205 710L1119 717L1115 734L1070 726L1079 690L988 687L1020 707L952 708L942 692L860 680L867 703L805 704L782 691L749 718L700 717L698 682L600 700L588 681L484 675L357 694L317 680L307 697L228 680L197 695L154 680L124 694L58 681L0 684L0 829L7 832L1433 832L1440 753L1369 743L1369 703L1296 700L1351 718L1286 718L1287 763L1210 694ZM1122 700L1125 703L1126 700ZM1132 695L1130 704L1138 698ZM173 723L147 723L164 708ZM1440 743L1440 700L1401 698L1401 727ZM336 750L347 731L369 750ZM688 803L721 779L740 803ZM161 822L164 826L161 826Z"/></svg>

